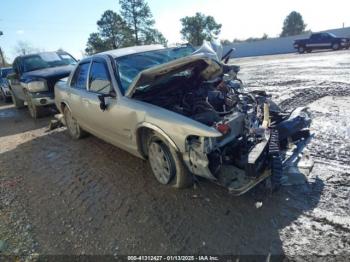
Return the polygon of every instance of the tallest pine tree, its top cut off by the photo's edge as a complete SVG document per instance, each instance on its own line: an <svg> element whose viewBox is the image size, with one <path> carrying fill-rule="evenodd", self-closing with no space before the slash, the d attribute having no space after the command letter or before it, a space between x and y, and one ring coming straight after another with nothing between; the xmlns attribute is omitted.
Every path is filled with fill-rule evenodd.
<svg viewBox="0 0 350 262"><path fill-rule="evenodd" d="M154 29L154 19L144 0L119 0L121 15L131 29L135 45L164 44L165 37Z"/></svg>

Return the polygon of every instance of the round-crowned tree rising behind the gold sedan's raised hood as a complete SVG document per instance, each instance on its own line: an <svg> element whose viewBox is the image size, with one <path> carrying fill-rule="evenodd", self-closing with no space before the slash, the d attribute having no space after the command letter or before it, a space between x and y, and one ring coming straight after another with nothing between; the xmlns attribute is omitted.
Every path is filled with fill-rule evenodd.
<svg viewBox="0 0 350 262"><path fill-rule="evenodd" d="M182 38L192 45L198 46L204 40L216 39L221 31L221 24L216 23L214 17L196 13L180 19L182 24Z"/></svg>

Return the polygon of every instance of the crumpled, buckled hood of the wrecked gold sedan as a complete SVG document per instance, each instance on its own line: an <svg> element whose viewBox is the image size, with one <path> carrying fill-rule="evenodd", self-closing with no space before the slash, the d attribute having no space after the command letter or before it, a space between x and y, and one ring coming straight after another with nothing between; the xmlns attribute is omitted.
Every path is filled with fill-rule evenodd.
<svg viewBox="0 0 350 262"><path fill-rule="evenodd" d="M154 81L187 69L196 70L205 80L222 73L222 66L218 62L205 55L191 55L141 71L130 84L126 96L131 97L137 87L150 85Z"/></svg>

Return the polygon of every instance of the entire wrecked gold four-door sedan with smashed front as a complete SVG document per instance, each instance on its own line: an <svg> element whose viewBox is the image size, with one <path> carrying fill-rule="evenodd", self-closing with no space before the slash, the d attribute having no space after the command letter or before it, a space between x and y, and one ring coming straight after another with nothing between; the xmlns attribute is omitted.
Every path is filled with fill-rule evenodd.
<svg viewBox="0 0 350 262"><path fill-rule="evenodd" d="M269 177L279 184L279 131L307 128L307 114L291 120L265 92L242 91L237 67L193 51L152 45L81 60L55 86L62 122L74 139L88 132L148 159L161 184L201 176L235 195Z"/></svg>

